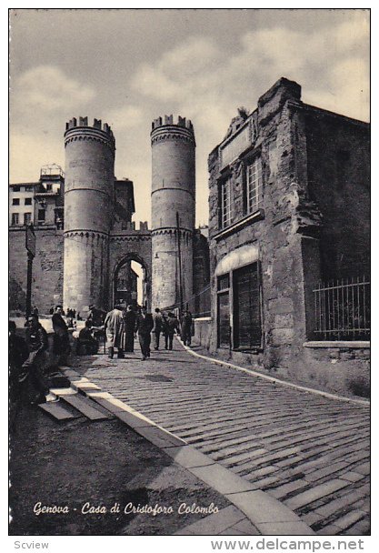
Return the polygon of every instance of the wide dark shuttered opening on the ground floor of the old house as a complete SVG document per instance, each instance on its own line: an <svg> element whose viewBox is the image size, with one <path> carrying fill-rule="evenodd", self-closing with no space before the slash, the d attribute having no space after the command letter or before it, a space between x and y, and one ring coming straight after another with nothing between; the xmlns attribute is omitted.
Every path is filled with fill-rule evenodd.
<svg viewBox="0 0 379 553"><path fill-rule="evenodd" d="M234 349L251 350L262 347L258 262L234 271L233 298Z"/></svg>

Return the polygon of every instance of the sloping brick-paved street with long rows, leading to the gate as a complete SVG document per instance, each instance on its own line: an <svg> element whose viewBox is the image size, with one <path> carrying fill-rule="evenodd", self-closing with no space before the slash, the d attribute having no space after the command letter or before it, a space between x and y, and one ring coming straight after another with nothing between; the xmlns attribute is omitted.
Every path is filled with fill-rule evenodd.
<svg viewBox="0 0 379 553"><path fill-rule="evenodd" d="M369 532L370 410L174 351L75 369L277 498L317 534Z"/></svg>

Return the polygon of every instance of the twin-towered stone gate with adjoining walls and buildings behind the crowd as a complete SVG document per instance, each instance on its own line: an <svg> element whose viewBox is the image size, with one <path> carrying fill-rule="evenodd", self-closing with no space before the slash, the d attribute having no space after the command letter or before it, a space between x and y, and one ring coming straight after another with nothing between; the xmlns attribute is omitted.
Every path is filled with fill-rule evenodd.
<svg viewBox="0 0 379 553"><path fill-rule="evenodd" d="M81 314L91 304L107 309L119 299L134 303L137 277L133 261L142 266L142 301L149 308L179 307L180 301L187 303L198 296L198 286L207 284L207 242L194 229L191 122L179 117L176 124L173 116L165 116L164 122L155 120L152 149L153 231L147 223L140 223L136 230L132 221L134 185L128 179L115 178L112 129L97 119L89 126L86 117L66 124L65 178L61 170L59 190L53 185L56 175L42 171L40 182L28 193L38 206L34 218L26 223L35 222L32 302L41 313L48 313L57 303ZM10 308L23 311L25 221L19 217L15 224L13 218L9 232ZM199 267L195 281L194 264Z"/></svg>

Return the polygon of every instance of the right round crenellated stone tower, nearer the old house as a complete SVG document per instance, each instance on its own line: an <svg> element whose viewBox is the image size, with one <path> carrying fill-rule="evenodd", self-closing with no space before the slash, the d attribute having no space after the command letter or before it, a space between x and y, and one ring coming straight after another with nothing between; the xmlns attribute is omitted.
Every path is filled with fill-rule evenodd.
<svg viewBox="0 0 379 553"><path fill-rule="evenodd" d="M152 132L152 307L193 295L194 127L158 117Z"/></svg>

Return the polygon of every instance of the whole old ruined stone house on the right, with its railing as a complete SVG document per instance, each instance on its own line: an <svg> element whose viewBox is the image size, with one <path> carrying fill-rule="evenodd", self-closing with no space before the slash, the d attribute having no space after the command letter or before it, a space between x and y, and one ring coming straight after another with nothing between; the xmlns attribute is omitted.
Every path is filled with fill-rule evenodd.
<svg viewBox="0 0 379 553"><path fill-rule="evenodd" d="M240 110L208 162L206 347L335 389L367 377L369 156L367 124L305 105L293 81ZM354 320L330 321L352 301Z"/></svg>

